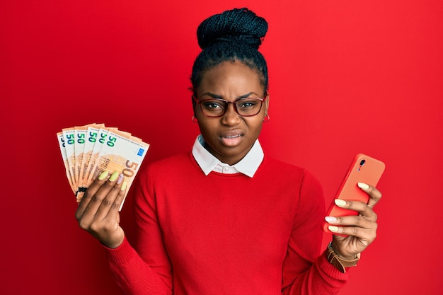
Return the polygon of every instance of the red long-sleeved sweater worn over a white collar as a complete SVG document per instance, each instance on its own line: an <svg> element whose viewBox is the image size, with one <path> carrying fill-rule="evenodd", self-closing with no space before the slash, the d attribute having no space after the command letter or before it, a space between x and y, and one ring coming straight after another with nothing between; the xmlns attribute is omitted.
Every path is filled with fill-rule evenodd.
<svg viewBox="0 0 443 295"><path fill-rule="evenodd" d="M336 294L321 253L323 192L306 170L263 159L253 178L205 176L191 153L151 163L134 185L137 241L106 248L127 294Z"/></svg>

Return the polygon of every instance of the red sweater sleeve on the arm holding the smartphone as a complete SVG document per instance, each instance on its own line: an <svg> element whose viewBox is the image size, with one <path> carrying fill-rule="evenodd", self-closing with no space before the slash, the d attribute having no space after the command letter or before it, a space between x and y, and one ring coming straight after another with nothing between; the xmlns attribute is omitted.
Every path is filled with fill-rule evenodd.
<svg viewBox="0 0 443 295"><path fill-rule="evenodd" d="M283 262L284 295L333 295L349 277L339 272L321 252L325 215L323 190L311 173L304 171L299 204Z"/></svg>

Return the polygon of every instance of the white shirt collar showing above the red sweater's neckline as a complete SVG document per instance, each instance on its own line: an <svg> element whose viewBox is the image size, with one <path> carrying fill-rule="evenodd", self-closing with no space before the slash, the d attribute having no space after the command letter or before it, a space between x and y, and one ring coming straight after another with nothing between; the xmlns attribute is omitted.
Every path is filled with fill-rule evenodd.
<svg viewBox="0 0 443 295"><path fill-rule="evenodd" d="M205 149L204 144L205 139L203 139L202 134L200 134L197 139L195 139L194 146L192 146L192 156L194 156L195 161L197 161L205 175L208 175L211 171L215 171L225 174L243 173L252 178L258 166L260 166L260 163L263 161L263 149L258 139L255 140L251 151L248 151L248 154L233 166L222 163Z"/></svg>

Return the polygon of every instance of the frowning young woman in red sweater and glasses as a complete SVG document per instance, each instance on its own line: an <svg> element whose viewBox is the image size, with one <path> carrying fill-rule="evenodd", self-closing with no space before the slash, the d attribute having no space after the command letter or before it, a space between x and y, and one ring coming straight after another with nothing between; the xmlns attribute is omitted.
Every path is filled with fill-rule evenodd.
<svg viewBox="0 0 443 295"><path fill-rule="evenodd" d="M258 47L266 32L247 8L200 24L191 80L201 134L189 153L138 175L133 245L119 225L123 176L105 172L88 187L76 219L104 245L127 294L336 294L374 241L376 188L360 184L369 204L338 204L359 216L325 217L316 178L263 153L270 95ZM333 235L321 251L325 218L348 236Z"/></svg>

